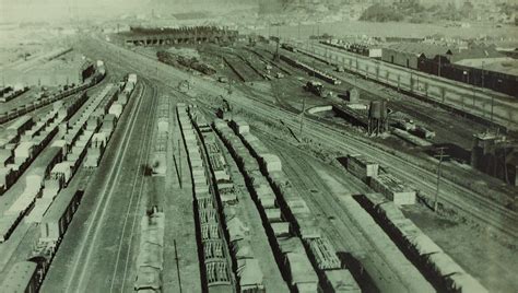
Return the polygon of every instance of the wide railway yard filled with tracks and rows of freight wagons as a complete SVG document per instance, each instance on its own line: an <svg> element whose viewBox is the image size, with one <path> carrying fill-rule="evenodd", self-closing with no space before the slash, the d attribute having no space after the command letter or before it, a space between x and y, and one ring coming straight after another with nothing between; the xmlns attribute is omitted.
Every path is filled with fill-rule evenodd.
<svg viewBox="0 0 518 293"><path fill-rule="evenodd" d="M440 107L419 98L419 85L387 86L357 65L337 72L310 46L185 45L216 71L203 75L160 62L163 47L105 39L74 46L106 70L85 101L37 109L54 115L48 141L0 197L5 218L33 192L0 244L0 283L28 280L40 292L517 288L516 187L461 160L440 162L437 187L439 146L470 149L473 134L496 128L473 118L475 108ZM318 78L285 58L331 72L340 84L322 83L333 95L305 91ZM388 101L391 115L435 137L367 134L343 115L351 103L341 95L353 87L356 104ZM55 169L63 162L76 163ZM42 177L36 191L31 176ZM389 200L396 191L401 198ZM12 273L27 260L37 278Z"/></svg>

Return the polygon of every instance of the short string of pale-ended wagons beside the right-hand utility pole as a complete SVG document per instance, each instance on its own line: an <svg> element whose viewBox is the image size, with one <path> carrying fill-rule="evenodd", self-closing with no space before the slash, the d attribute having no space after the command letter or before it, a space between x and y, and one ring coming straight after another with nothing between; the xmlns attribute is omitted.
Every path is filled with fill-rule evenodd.
<svg viewBox="0 0 518 293"><path fill-rule="evenodd" d="M380 171L379 164L361 154L348 155L348 171L362 179L376 192L382 194L398 206L414 204L416 192L391 174Z"/></svg>

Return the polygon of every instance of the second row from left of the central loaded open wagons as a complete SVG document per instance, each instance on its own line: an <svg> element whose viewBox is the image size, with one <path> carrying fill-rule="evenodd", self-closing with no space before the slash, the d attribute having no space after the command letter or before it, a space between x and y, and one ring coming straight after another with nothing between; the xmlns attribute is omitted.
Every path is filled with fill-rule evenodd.
<svg viewBox="0 0 518 293"><path fill-rule="evenodd" d="M234 271L239 292L263 292L263 273L250 243L249 223L246 208L239 202L238 190L228 174L228 165L210 125L197 108L191 107L190 117L198 129L207 150L212 178L221 204L225 236L231 247ZM196 119L195 119L196 117ZM240 195L240 194L239 194ZM208 216L204 214L203 216Z"/></svg>

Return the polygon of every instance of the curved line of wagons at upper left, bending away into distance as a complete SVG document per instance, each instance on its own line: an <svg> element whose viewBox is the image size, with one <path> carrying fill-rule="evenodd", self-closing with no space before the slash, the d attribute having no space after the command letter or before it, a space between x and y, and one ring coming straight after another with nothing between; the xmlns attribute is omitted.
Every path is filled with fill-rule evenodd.
<svg viewBox="0 0 518 293"><path fill-rule="evenodd" d="M44 107L46 105L49 105L56 101L62 99L63 97L80 93L95 84L97 84L99 81L102 81L106 75L106 69L104 66L104 62L98 60L97 61L97 67L96 67L96 72L92 77L92 79L89 79L86 82L84 82L81 85L76 86L71 86L67 89L66 91L59 92L55 95L47 96L47 97L40 97L34 103L28 103L26 105L22 105L19 108L12 109L10 112L5 112L3 114L0 114L0 124L4 124L9 120L15 119L20 116L23 116L30 112L33 112L37 108Z"/></svg>

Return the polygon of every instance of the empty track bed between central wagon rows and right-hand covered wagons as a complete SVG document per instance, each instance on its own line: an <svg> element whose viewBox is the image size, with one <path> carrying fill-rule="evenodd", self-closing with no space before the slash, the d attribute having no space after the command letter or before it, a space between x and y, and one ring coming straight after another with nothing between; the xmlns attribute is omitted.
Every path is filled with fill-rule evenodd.
<svg viewBox="0 0 518 293"><path fill-rule="evenodd" d="M264 138L264 134L262 137ZM431 289L431 284L417 269L413 268L403 254L388 255L391 253L379 249L374 239L358 226L358 223L351 218L343 206L337 204L340 199L327 185L316 179L318 174L306 160L295 160L293 155L286 155L286 150L293 149L290 153L297 153L301 152L298 149L287 143L279 145L278 141L268 141L267 143L270 144L270 150L276 150L276 154L283 162L283 169L293 175L290 176L290 179L299 194L304 195L311 210L325 215L335 215L334 220L325 226L327 235L334 247L345 246L346 253L352 254L356 260L362 262L378 290L381 292L415 292L425 290L425 288ZM365 186L361 186L363 184L351 181L351 185L354 190L366 189ZM320 191L320 196L308 194L315 188ZM403 266L405 270L401 270L398 268L399 266Z"/></svg>

